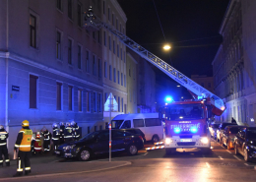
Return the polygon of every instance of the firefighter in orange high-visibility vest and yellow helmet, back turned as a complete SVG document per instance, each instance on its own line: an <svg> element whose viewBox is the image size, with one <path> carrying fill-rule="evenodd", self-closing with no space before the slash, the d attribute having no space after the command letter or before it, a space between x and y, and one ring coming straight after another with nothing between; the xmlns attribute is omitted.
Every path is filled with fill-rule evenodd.
<svg viewBox="0 0 256 182"><path fill-rule="evenodd" d="M23 175L24 166L26 175L32 172L30 161L32 154L32 130L30 129L30 122L28 120L24 120L22 122L22 127L23 128L20 130L14 146L14 150L16 152L17 149L19 149L17 173L14 177Z"/></svg>

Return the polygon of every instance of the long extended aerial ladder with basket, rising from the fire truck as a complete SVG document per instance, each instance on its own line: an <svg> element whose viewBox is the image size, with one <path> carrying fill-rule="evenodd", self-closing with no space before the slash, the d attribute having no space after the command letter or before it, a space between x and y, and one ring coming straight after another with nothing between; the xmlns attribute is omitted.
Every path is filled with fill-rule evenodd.
<svg viewBox="0 0 256 182"><path fill-rule="evenodd" d="M114 35L119 37L119 39L131 50L135 51L141 57L145 58L147 61L158 67L171 79L173 79L189 91L192 91L193 93L198 95L198 98L207 99L208 103L211 103L212 112L215 115L220 116L223 114L225 105L222 98L215 95L211 91L208 91L205 88L201 87L191 79L187 78L185 75L174 69L172 66L161 60L158 56L154 55L119 30L115 30L112 26L100 21L100 19L94 14L92 7L89 8L88 12L85 12L84 21L84 27L87 30L96 31L103 28L112 32Z"/></svg>

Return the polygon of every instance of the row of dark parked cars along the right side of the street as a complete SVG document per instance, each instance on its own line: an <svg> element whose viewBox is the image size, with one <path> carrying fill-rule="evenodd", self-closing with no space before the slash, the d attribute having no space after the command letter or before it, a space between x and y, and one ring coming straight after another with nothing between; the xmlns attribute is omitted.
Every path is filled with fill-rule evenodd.
<svg viewBox="0 0 256 182"><path fill-rule="evenodd" d="M234 153L243 155L245 161L256 159L256 127L214 123L209 129L211 136L227 150L234 149Z"/></svg>

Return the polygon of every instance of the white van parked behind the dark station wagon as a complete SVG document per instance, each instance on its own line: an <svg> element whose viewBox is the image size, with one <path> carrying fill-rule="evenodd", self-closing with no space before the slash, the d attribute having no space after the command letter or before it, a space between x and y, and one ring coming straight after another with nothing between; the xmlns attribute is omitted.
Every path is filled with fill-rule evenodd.
<svg viewBox="0 0 256 182"><path fill-rule="evenodd" d="M140 129L147 141L154 143L162 140L163 127L159 113L120 114L112 119L112 129Z"/></svg>

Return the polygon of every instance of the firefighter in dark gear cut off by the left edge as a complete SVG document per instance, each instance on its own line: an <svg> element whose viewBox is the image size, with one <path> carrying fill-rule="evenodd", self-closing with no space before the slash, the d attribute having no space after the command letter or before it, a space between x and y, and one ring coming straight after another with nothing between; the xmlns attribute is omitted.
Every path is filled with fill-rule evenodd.
<svg viewBox="0 0 256 182"><path fill-rule="evenodd" d="M6 166L10 166L10 159L7 149L6 139L9 137L9 134L6 132L3 125L0 125L0 167L3 166L4 160L2 154L5 156Z"/></svg>

